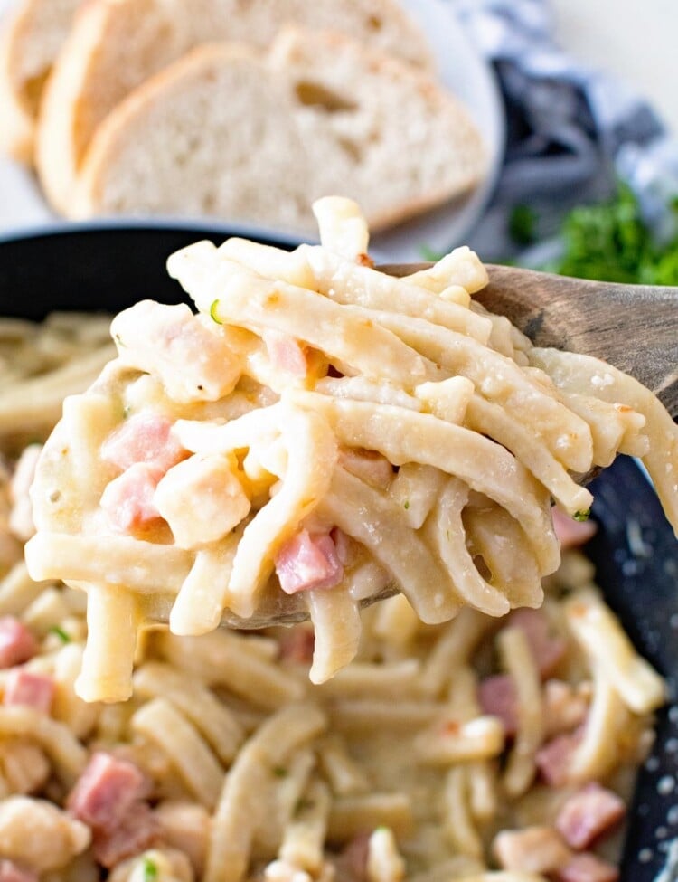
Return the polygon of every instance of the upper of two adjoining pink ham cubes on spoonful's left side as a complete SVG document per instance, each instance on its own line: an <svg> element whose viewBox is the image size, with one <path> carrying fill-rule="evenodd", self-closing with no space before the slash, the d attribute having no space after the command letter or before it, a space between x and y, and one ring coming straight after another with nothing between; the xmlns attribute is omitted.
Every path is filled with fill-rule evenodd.
<svg viewBox="0 0 678 882"><path fill-rule="evenodd" d="M145 462L165 474L187 455L174 438L172 425L158 413L131 416L104 441L101 459L123 470Z"/></svg>

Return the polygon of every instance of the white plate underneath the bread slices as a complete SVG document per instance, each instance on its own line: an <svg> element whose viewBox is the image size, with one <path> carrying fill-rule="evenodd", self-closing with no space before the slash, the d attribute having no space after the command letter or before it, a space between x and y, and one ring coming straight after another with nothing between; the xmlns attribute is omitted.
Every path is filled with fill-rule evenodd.
<svg viewBox="0 0 678 882"><path fill-rule="evenodd" d="M440 79L471 111L485 140L489 163L485 181L472 194L376 236L372 251L381 261L420 261L425 248L447 251L464 242L492 194L504 154L504 109L494 73L457 21L452 0L402 0L402 3L427 33ZM0 14L10 5L11 0L0 0ZM119 223L125 222L120 219ZM186 219L181 223L186 225ZM221 225L233 226L208 218L202 223L209 223L215 229ZM44 203L33 175L0 157L0 235L31 232L38 227L44 230L61 224ZM284 231L278 231L280 233Z"/></svg>

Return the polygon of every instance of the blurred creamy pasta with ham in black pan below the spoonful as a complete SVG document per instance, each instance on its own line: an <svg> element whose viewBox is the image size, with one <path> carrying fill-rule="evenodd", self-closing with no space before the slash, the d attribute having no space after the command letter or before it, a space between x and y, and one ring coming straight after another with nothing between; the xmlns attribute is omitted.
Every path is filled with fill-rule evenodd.
<svg viewBox="0 0 678 882"><path fill-rule="evenodd" d="M0 324L0 339L16 368L3 390L40 379L55 396L64 373L80 374L80 388L64 391L84 391L80 369L108 345L97 319L78 317ZM41 364L44 350L53 355ZM664 682L577 550L544 581L540 610L466 608L424 624L404 594L374 604L355 659L320 685L308 678L316 621L202 636L142 629L129 700L86 702L75 688L89 651L86 596L33 581L22 559L46 422L36 409L0 430L2 882L107 872L112 882L614 882ZM98 461L96 445L80 455L88 450ZM427 520L422 500L471 495L450 480L425 464L402 479L394 498L411 499L411 530ZM464 517L489 566L492 534L473 500ZM564 546L593 529L555 522ZM181 560L173 545L161 549L167 561L152 563L162 586ZM223 557L200 560L221 574ZM88 593L98 610L119 610L114 591ZM95 631L109 651L126 639L113 627Z"/></svg>

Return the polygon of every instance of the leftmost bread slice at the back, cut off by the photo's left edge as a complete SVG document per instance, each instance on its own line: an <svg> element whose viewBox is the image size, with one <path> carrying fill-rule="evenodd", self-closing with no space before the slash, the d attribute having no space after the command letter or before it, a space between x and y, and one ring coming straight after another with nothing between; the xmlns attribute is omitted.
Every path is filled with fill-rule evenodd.
<svg viewBox="0 0 678 882"><path fill-rule="evenodd" d="M0 39L0 150L33 161L42 87L81 0L23 0Z"/></svg>

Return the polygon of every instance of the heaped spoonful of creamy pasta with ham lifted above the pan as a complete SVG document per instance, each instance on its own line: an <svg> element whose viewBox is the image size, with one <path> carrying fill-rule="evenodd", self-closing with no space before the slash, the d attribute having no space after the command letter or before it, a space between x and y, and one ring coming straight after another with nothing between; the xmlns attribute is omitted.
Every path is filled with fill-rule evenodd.
<svg viewBox="0 0 678 882"><path fill-rule="evenodd" d="M664 319L641 295L641 326L608 286L597 349L595 286L500 268L488 285L466 248L384 272L357 205L315 213L320 246L174 254L197 315L150 300L118 315L118 357L64 404L26 559L88 594L87 700L128 697L155 622L197 636L309 618L322 682L353 659L360 607L396 590L429 623L539 606L560 560L552 500L588 517L579 478L617 452L644 459L678 526L678 431L653 394L675 411L670 292ZM632 316L636 339L663 340L645 373L623 345Z"/></svg>

